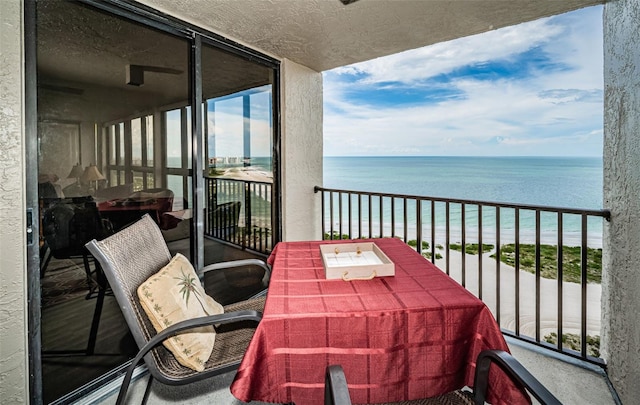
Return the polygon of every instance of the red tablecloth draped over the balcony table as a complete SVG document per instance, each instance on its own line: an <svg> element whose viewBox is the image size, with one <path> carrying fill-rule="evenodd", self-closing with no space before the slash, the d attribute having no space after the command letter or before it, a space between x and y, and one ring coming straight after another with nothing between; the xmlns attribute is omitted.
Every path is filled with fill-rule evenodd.
<svg viewBox="0 0 640 405"><path fill-rule="evenodd" d="M264 317L231 385L236 398L322 404L328 364L343 366L354 403L427 398L472 386L480 351L508 351L482 301L401 240L369 241L395 276L326 280L319 245L359 241L275 247ZM522 402L493 368L491 402Z"/></svg>

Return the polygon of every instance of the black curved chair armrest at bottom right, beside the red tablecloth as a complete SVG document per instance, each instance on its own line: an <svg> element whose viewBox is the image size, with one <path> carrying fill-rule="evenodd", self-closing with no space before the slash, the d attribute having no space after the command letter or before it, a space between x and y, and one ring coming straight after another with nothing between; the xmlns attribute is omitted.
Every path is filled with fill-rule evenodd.
<svg viewBox="0 0 640 405"><path fill-rule="evenodd" d="M473 394L476 404L484 404L491 363L498 365L518 387L525 388L541 404L562 405L515 357L504 350L484 350L478 355Z"/></svg>

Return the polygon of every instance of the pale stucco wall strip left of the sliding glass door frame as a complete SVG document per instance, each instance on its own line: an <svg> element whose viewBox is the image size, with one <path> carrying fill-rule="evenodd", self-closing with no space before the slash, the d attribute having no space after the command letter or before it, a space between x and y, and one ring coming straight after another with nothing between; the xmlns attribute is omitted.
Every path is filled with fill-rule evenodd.
<svg viewBox="0 0 640 405"><path fill-rule="evenodd" d="M0 402L28 402L22 2L0 1Z"/></svg>

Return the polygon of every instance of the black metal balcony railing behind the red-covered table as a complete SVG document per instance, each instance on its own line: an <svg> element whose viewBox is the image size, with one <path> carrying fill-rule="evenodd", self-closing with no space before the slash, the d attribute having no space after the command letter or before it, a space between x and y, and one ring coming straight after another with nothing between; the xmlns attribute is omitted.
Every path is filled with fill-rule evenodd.
<svg viewBox="0 0 640 405"><path fill-rule="evenodd" d="M318 186L315 192L322 193L323 239L399 237L415 244L487 304L505 335L604 367L598 277L608 210Z"/></svg>

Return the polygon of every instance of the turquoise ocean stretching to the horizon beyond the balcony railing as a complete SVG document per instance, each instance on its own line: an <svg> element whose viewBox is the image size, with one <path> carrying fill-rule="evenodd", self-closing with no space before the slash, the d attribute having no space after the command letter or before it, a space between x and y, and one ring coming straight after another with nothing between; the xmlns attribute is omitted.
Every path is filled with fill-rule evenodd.
<svg viewBox="0 0 640 405"><path fill-rule="evenodd" d="M500 203L532 204L574 209L602 209L602 159L592 157L325 157L326 188L455 198ZM387 204L390 205L390 204ZM469 207L471 208L471 207ZM477 233L477 210L466 210L467 237ZM459 231L460 206L451 206L452 237ZM511 212L510 212L511 211ZM390 207L386 207L386 214ZM426 215L430 215L425 211ZM367 214L365 213L365 217ZM379 217L379 214L377 215ZM385 215L386 216L386 215ZM409 222L415 212L407 212ZM423 218L429 218L424 216ZM329 218L325 218L325 222ZM372 212L374 229L379 218ZM444 232L444 204L436 206L436 231ZM501 239L514 239L512 210L501 210ZM602 245L600 218L588 221L588 244ZM384 224L385 229L390 224ZM483 209L483 241L495 235L495 211ZM493 231L491 230L493 227ZM415 227L414 227L415 228ZM534 237L533 211L521 211L520 237L525 242ZM580 242L580 217L565 215L563 244ZM389 231L390 232L390 231ZM423 227L423 232L425 229ZM397 232L396 232L397 233ZM415 234L415 229L409 229ZM485 235L486 234L486 235ZM541 217L542 242L557 241L557 216ZM453 241L452 241L453 242Z"/></svg>

